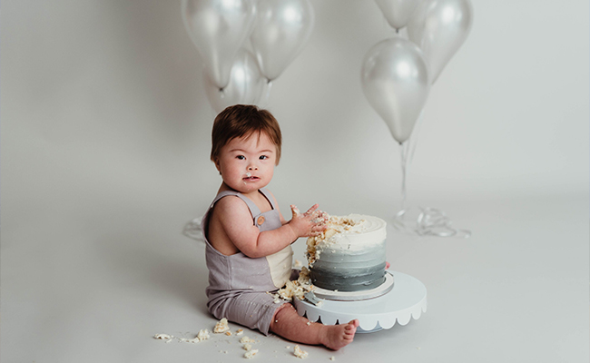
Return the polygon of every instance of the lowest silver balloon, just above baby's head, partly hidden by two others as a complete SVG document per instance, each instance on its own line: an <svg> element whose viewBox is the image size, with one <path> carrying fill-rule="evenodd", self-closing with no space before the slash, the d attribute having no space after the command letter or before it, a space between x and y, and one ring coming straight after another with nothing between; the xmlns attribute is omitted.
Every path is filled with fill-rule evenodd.
<svg viewBox="0 0 590 363"><path fill-rule="evenodd" d="M266 80L261 74L256 58L251 52L241 49L231 67L230 83L223 90L217 87L205 73L205 91L216 113L232 104L256 104L261 100Z"/></svg>

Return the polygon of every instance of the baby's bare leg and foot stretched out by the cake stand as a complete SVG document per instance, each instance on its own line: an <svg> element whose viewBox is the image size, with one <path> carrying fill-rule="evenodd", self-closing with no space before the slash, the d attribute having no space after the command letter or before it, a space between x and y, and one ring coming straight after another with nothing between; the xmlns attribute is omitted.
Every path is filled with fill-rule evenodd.
<svg viewBox="0 0 590 363"><path fill-rule="evenodd" d="M334 350L351 343L357 327L359 327L357 319L340 325L310 322L300 317L291 304L284 304L277 309L270 323L270 331L282 338L303 344L321 344Z"/></svg>

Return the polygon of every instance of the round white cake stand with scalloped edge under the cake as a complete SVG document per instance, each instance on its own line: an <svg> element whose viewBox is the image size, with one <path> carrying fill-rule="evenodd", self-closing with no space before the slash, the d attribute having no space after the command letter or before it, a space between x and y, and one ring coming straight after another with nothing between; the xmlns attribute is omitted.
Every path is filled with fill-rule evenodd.
<svg viewBox="0 0 590 363"><path fill-rule="evenodd" d="M383 295L359 300L320 299L320 306L306 300L294 299L300 316L326 325L359 319L359 333L372 333L390 329L396 323L408 324L411 318L419 319L426 312L426 287L418 279L401 272L388 271L395 280L393 288Z"/></svg>

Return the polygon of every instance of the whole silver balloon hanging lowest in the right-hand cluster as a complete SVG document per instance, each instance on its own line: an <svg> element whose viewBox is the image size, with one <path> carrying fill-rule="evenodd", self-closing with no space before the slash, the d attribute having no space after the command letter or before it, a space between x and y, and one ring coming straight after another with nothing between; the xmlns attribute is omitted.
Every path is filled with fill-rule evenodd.
<svg viewBox="0 0 590 363"><path fill-rule="evenodd" d="M365 55L361 81L393 138L408 140L430 91L428 64L418 45L400 37L379 42Z"/></svg>

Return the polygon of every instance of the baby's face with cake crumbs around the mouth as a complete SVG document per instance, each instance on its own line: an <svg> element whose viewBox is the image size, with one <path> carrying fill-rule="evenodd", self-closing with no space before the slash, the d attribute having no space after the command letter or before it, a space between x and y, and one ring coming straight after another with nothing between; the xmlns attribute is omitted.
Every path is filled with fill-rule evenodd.
<svg viewBox="0 0 590 363"><path fill-rule="evenodd" d="M249 193L269 184L276 157L277 148L269 137L265 133L253 133L249 138L235 138L223 146L215 166L231 189Z"/></svg>

